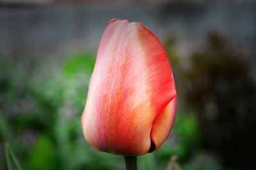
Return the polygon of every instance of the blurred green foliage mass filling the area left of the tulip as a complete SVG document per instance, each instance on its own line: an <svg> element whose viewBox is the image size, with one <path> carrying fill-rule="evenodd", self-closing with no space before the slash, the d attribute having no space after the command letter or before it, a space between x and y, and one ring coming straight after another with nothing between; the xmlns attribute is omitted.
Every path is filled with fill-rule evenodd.
<svg viewBox="0 0 256 170"><path fill-rule="evenodd" d="M120 169L86 145L77 121L94 62L90 54L73 55L49 73L42 64L0 60L0 155L8 142L24 169Z"/></svg>

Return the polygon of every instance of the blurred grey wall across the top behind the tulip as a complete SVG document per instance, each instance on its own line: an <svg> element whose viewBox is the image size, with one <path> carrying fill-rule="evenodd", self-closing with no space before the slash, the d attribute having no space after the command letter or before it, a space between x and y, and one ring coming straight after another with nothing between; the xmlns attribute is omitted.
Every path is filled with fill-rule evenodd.
<svg viewBox="0 0 256 170"><path fill-rule="evenodd" d="M209 31L218 31L255 52L256 3L113 6L56 4L45 7L0 8L0 55L16 60L59 60L74 52L97 50L111 18L139 21L161 41L177 38L182 56L201 48Z"/></svg>

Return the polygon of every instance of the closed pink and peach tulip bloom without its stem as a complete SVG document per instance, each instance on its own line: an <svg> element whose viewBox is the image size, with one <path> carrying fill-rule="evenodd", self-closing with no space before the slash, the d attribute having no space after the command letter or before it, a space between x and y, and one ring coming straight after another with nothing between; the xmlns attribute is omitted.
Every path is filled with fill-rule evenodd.
<svg viewBox="0 0 256 170"><path fill-rule="evenodd" d="M156 151L175 120L176 90L159 39L147 27L110 20L100 41L81 123L102 152Z"/></svg>

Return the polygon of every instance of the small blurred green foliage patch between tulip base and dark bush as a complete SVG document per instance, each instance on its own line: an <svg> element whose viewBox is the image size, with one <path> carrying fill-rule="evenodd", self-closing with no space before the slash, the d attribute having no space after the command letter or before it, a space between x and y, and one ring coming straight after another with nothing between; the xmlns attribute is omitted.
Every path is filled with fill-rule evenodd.
<svg viewBox="0 0 256 170"><path fill-rule="evenodd" d="M191 113L179 111L168 140L155 153L159 164L166 167L170 157L176 155L184 165L193 154L200 150L198 122Z"/></svg>

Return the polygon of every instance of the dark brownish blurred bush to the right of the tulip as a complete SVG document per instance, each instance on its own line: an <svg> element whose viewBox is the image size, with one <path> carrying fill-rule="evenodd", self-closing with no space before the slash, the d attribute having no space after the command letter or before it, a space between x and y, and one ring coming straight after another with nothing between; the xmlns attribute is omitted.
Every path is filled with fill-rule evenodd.
<svg viewBox="0 0 256 170"><path fill-rule="evenodd" d="M231 169L253 169L256 137L256 89L250 63L220 34L190 58L184 71L184 99L196 112L202 146Z"/></svg>

